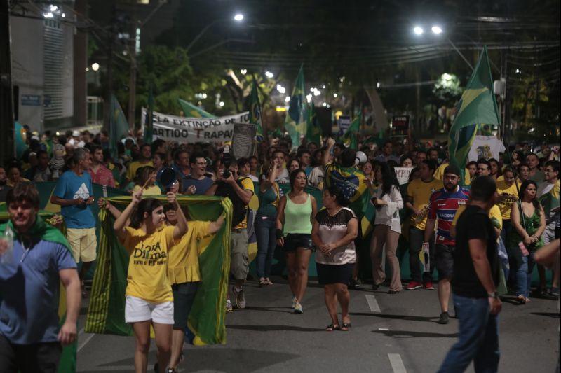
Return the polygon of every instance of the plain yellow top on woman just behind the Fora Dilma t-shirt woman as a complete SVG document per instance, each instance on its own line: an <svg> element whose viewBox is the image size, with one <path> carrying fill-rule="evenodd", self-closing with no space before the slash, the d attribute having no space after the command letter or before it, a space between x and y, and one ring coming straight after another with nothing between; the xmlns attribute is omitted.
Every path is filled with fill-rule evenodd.
<svg viewBox="0 0 561 373"><path fill-rule="evenodd" d="M210 221L189 221L187 233L170 248L168 279L170 283L201 281L198 267L198 243L208 235Z"/></svg>

